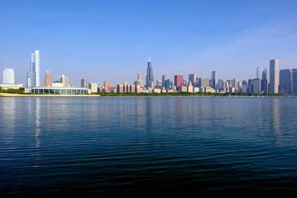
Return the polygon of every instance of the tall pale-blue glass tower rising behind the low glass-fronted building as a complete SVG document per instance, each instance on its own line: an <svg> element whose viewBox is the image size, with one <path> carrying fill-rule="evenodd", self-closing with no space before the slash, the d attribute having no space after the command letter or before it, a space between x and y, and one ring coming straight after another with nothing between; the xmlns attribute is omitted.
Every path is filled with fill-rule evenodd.
<svg viewBox="0 0 297 198"><path fill-rule="evenodd" d="M27 72L27 88L40 87L40 54L39 50L32 51L30 71Z"/></svg>

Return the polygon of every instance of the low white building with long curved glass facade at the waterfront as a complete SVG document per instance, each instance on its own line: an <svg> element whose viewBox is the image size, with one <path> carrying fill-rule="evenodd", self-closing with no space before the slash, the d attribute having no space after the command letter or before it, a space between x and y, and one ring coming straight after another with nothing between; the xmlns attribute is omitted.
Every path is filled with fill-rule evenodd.
<svg viewBox="0 0 297 198"><path fill-rule="evenodd" d="M91 94L89 88L83 87L31 87L34 94Z"/></svg>

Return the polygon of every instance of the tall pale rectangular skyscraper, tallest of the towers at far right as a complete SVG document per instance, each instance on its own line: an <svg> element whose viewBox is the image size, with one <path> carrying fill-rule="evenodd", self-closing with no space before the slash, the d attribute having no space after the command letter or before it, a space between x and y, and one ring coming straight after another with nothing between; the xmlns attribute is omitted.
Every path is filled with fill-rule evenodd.
<svg viewBox="0 0 297 198"><path fill-rule="evenodd" d="M278 94L279 90L279 60L270 60L269 94Z"/></svg>

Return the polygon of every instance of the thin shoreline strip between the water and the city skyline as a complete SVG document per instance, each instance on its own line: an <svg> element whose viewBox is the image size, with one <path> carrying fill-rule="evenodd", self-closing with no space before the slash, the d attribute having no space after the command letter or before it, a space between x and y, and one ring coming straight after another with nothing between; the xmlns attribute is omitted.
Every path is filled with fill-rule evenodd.
<svg viewBox="0 0 297 198"><path fill-rule="evenodd" d="M0 93L0 97L24 97L24 98L28 98L28 97L41 97L41 98L61 98L61 97L67 97L67 98L99 98L99 97L220 97L220 98L227 98L227 97L232 97L232 98L295 98L297 96L100 96L100 95L50 95L50 94L43 94L43 95L39 95L39 94L6 94L6 93Z"/></svg>

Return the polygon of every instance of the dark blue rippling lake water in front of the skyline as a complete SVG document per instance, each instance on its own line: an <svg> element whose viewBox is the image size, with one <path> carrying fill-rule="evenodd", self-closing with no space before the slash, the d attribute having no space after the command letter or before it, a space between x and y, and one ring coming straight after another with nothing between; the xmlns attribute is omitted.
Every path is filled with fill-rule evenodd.
<svg viewBox="0 0 297 198"><path fill-rule="evenodd" d="M297 98L0 98L0 197L297 191Z"/></svg>

